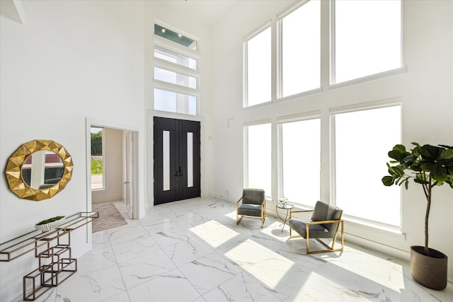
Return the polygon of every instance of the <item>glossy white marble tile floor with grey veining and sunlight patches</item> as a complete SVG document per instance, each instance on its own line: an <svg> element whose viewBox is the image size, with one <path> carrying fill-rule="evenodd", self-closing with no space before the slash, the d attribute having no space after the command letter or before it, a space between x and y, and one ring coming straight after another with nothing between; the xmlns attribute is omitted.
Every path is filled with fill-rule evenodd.
<svg viewBox="0 0 453 302"><path fill-rule="evenodd" d="M348 243L306 255L272 216L236 226L229 202L161 204L140 220L117 207L127 225L93 233L76 274L37 301L453 301L453 284L426 289L407 262Z"/></svg>

